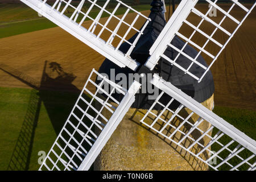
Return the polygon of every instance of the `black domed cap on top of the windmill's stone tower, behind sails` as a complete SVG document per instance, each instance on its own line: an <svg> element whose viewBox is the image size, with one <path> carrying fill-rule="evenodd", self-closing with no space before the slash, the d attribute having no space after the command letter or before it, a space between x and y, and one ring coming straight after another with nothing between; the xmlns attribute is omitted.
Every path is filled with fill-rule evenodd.
<svg viewBox="0 0 256 182"><path fill-rule="evenodd" d="M144 63L146 63L146 60L148 59L149 55L149 49L151 48L152 44L154 44L156 38L158 38L158 35L163 30L163 27L166 25L166 20L164 20L164 15L162 13L162 2L161 1L153 1L151 3L151 13L149 15L149 18L151 19L151 22L148 23L146 29L144 30L144 34L139 38L137 45L135 46L133 52L131 53L131 57L138 61L141 64L141 67ZM133 42L133 40L136 38L137 34L135 34L131 39L129 39L129 42ZM182 40L180 40L177 36L172 40L172 45L176 46L177 48L181 49L183 45L185 44ZM122 52L126 53L129 49L130 45L127 43L123 43L121 47L119 48ZM184 52L187 53L187 55L191 57L195 57L197 55L197 51L192 48L191 46L187 45L184 48ZM170 59L174 60L174 58L177 55L177 51L174 49L168 47L166 52L164 52L165 55L170 57ZM197 58L197 61L199 63L205 65L205 67L208 67L207 63L205 63L204 58L200 55ZM181 65L183 68L187 68L189 64L191 63L190 60L187 59L187 57L180 55L179 58L176 60L176 63ZM129 73L135 73L130 68L120 68L118 65L114 64L112 61L105 59L102 63L100 69L98 70L99 73L106 73L106 75L110 78L110 69L115 69L115 75L118 73L125 73L127 75L127 85L128 84L128 74ZM138 68L136 72L148 72L146 71L147 68ZM193 75L196 75L197 77L200 77L204 69L197 66L196 64L193 64L191 69L189 69ZM213 76L210 71L204 76L203 80L201 82L197 82L195 78L184 74L181 69L171 65L170 62L168 62L165 59L160 59L158 62L158 65L153 70L154 73L158 73L159 76L161 76L164 80L171 82L171 84L175 85L177 88L181 89L183 92L187 93L189 96L194 98L198 102L203 102L207 100L210 96L212 96L214 92L214 83L213 83ZM115 80L112 80L115 81ZM118 83L119 81L115 81ZM145 83L148 84L148 83ZM140 90L141 91L141 90ZM160 90L159 90L160 93ZM114 94L114 97L119 100L119 94ZM171 97L164 95L160 102L163 104L167 104L168 101L170 101ZM135 97L135 102L132 105L134 108L138 109L149 109L150 106L154 100L148 100L148 93L138 93ZM172 103L171 109L175 109L175 107L179 106L178 103ZM157 106L156 106L157 107ZM161 109L160 107L155 109Z"/></svg>

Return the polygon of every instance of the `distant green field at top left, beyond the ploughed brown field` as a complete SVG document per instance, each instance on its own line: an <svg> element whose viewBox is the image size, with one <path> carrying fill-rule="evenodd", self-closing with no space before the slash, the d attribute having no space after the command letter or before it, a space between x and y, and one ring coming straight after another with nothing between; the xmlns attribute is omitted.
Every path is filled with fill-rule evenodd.
<svg viewBox="0 0 256 182"><path fill-rule="evenodd" d="M150 5L137 5L133 6L135 10L143 11L149 10ZM110 12L113 7L108 9ZM99 9L93 9L90 16L96 18ZM117 10L115 15L124 14L125 8L121 7ZM73 10L68 9L66 15L71 15ZM109 16L108 13L103 13L102 17ZM78 21L81 17L78 19ZM44 30L47 28L56 27L46 18L40 18L36 11L32 10L26 5L5 5L0 4L0 38L6 38L13 35L24 34L27 32Z"/></svg>

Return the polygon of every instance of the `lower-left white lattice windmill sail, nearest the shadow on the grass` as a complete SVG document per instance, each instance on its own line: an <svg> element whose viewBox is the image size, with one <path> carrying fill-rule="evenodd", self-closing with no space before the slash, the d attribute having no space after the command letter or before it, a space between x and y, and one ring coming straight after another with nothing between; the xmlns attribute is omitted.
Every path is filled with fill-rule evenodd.
<svg viewBox="0 0 256 182"><path fill-rule="evenodd" d="M102 80L98 85L92 80L95 76ZM106 84L112 89L105 90ZM96 87L95 92L90 90L92 86ZM39 170L88 170L133 104L140 86L134 81L129 90L125 90L93 69ZM121 102L113 98L115 92L123 94ZM99 93L106 97L99 97ZM109 104L110 100L115 105ZM96 105L100 109L96 109ZM104 109L108 115L102 114Z"/></svg>

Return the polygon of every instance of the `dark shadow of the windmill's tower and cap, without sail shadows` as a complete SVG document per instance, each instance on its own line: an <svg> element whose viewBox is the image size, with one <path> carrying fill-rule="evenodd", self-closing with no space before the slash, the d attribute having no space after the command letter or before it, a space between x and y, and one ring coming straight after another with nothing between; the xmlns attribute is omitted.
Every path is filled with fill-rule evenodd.
<svg viewBox="0 0 256 182"><path fill-rule="evenodd" d="M39 96L56 134L60 133L81 92L72 84L76 76L64 72L59 63L46 61Z"/></svg>

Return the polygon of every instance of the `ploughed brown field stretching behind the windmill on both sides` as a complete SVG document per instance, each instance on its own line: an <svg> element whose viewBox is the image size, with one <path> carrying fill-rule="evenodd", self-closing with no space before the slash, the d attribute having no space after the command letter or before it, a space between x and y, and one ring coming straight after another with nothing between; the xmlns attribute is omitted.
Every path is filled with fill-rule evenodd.
<svg viewBox="0 0 256 182"><path fill-rule="evenodd" d="M205 5L200 5L199 8L206 9ZM240 12L236 11L235 13L240 16ZM150 11L143 12L144 15L149 13ZM133 18L134 14L129 14L126 21L130 23ZM193 20L194 16L191 18ZM222 17L218 17L217 12L217 17L213 18L220 19ZM104 23L106 19L102 18L101 22ZM211 68L216 88L214 92L216 105L256 110L255 20L256 10L253 10ZM92 22L85 22L84 26L89 26L90 23ZM136 27L141 27L143 23L143 21L138 22ZM109 28L113 29L115 25L112 23ZM207 24L202 24L202 26L207 27ZM224 21L224 27L227 30L232 26L231 20ZM183 31L187 31L189 34L189 30L184 28ZM121 27L119 34L125 34L126 30L127 26ZM96 28L97 31L99 31L98 28ZM131 31L128 37L133 34L134 31ZM109 35L104 32L101 38L107 38ZM221 41L225 39L225 36L221 32L216 32L214 38ZM197 36L196 39L205 41L200 36ZM114 39L113 44L118 44L118 40ZM216 51L210 45L208 49ZM47 74L51 78L54 79L64 72L73 73L76 78L71 80L72 86L82 89L89 73L93 68L97 70L104 59L104 56L59 27L3 38L0 39L0 86L30 88L31 85L40 84L47 61L48 70L52 70L49 68L49 64L52 62L63 68L61 73L48 72ZM207 60L207 58L205 59ZM63 85L62 89L70 88L65 88L65 84ZM49 84L46 87L55 88L55 86Z"/></svg>

